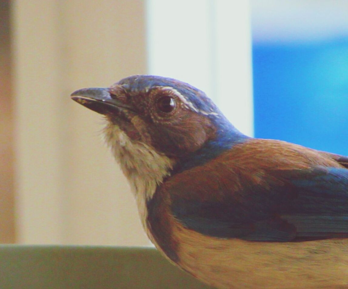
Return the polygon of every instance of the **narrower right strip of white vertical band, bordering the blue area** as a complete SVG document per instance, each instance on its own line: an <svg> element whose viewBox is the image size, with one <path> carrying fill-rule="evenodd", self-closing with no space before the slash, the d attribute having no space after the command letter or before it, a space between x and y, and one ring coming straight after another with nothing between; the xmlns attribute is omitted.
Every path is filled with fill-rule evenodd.
<svg viewBox="0 0 348 289"><path fill-rule="evenodd" d="M254 133L249 1L215 3L214 59L217 104L243 133Z"/></svg>

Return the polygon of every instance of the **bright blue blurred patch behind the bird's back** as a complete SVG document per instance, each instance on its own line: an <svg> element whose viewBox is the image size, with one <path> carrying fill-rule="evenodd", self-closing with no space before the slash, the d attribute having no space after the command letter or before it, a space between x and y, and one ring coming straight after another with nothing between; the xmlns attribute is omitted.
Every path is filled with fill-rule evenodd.
<svg viewBox="0 0 348 289"><path fill-rule="evenodd" d="M254 43L255 137L348 154L348 39Z"/></svg>

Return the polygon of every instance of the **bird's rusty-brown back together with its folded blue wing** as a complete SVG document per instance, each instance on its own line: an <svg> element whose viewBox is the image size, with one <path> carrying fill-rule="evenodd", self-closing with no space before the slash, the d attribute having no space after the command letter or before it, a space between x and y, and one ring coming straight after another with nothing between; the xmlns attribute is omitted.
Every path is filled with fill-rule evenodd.
<svg viewBox="0 0 348 289"><path fill-rule="evenodd" d="M197 232L254 241L348 236L348 170L334 155L253 139L174 175L159 193Z"/></svg>

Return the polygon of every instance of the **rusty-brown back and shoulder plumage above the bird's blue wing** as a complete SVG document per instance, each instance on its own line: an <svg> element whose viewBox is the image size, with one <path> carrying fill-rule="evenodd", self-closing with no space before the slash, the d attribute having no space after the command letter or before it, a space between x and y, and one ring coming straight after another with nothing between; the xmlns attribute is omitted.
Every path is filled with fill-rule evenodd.
<svg viewBox="0 0 348 289"><path fill-rule="evenodd" d="M343 161L342 161L343 160ZM217 192L230 194L251 185L270 186L282 182L279 172L310 170L314 167L343 168L347 157L272 139L250 138L222 152L205 164L169 177L163 190L216 198ZM346 163L347 164L347 163ZM224 190L217 188L223 186ZM212 196L211 191L215 194Z"/></svg>

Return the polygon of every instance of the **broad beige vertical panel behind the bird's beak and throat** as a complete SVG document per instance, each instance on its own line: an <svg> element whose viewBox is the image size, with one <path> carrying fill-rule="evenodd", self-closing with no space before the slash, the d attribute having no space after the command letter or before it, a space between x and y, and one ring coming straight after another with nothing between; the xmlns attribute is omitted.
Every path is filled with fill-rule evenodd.
<svg viewBox="0 0 348 289"><path fill-rule="evenodd" d="M15 0L19 243L147 245L133 196L76 89L145 73L144 1Z"/></svg>

